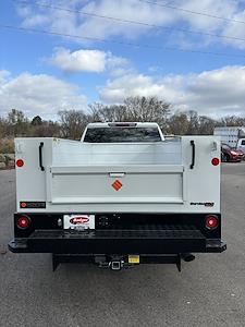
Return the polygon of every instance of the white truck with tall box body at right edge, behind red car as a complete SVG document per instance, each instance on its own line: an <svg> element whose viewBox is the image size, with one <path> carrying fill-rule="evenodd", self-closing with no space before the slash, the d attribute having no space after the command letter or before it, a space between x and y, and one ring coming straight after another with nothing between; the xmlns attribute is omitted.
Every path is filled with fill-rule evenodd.
<svg viewBox="0 0 245 327"><path fill-rule="evenodd" d="M215 128L213 135L220 136L221 143L232 148L245 150L245 126Z"/></svg>

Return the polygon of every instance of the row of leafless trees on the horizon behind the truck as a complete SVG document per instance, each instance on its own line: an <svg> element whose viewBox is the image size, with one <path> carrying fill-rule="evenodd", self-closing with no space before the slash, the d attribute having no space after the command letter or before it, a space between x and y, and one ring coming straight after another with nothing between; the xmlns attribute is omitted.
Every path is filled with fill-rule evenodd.
<svg viewBox="0 0 245 327"><path fill-rule="evenodd" d="M79 140L88 122L149 121L157 122L163 133L175 135L208 135L215 126L244 126L245 118L226 116L219 120L199 116L196 111L171 113L171 105L156 97L130 97L122 105L95 102L89 112L77 110L59 111L58 122L45 121L39 116L29 121L23 111L12 109L5 118L0 117L0 137L58 136Z"/></svg>

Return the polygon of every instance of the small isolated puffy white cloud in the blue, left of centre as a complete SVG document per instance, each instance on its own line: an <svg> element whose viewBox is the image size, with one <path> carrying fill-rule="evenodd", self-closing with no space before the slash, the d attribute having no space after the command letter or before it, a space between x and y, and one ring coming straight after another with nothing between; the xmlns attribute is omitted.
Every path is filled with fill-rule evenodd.
<svg viewBox="0 0 245 327"><path fill-rule="evenodd" d="M121 57L112 56L111 52L100 50L71 51L64 48L58 48L48 62L60 68L64 72L96 72L101 73L105 70L114 70L127 64L127 60Z"/></svg>

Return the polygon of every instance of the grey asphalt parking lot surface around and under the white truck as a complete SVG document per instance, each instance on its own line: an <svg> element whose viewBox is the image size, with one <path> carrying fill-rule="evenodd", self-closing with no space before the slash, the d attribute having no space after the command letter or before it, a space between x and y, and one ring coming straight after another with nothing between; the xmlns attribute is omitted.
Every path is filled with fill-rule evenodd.
<svg viewBox="0 0 245 327"><path fill-rule="evenodd" d="M0 326L245 326L245 164L222 165L222 254L113 272L13 254L14 171L0 172Z"/></svg>

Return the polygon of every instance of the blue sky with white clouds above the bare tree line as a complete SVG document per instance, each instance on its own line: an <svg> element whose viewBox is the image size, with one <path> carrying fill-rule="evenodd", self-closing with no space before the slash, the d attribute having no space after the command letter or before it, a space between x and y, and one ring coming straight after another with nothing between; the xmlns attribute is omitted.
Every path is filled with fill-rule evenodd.
<svg viewBox="0 0 245 327"><path fill-rule="evenodd" d="M245 1L198 2L1 1L0 116L16 108L52 119L136 95L173 110L245 116Z"/></svg>

